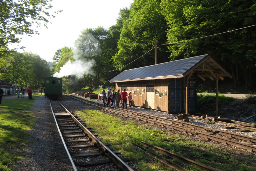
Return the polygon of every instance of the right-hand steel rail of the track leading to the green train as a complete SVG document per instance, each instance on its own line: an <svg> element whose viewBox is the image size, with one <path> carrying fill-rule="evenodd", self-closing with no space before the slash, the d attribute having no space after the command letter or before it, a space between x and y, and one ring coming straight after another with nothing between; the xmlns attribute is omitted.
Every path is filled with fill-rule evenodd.
<svg viewBox="0 0 256 171"><path fill-rule="evenodd" d="M58 100L60 103L60 101ZM98 147L101 147L104 150L104 153L113 160L113 162L119 167L122 168L124 171L133 171L133 169L128 166L122 159L120 159L114 152L112 152L106 145L104 145L96 136L94 136L91 131L89 131L76 117L71 114L61 103L60 105L67 111L70 116L76 121L77 125L84 130L84 132L89 136L92 141L97 144Z"/></svg>

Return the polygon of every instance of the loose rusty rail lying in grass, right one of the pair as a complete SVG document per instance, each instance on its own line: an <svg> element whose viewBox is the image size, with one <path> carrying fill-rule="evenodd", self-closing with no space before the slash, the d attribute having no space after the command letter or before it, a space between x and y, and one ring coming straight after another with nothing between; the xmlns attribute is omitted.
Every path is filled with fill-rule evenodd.
<svg viewBox="0 0 256 171"><path fill-rule="evenodd" d="M157 152L160 152L168 157L171 157L171 158L176 158L176 159L179 159L183 162L186 162L190 165L193 165L193 166L196 166L202 170L206 170L206 171L217 171L216 169L212 168L212 167L208 167L206 165L203 165L202 163L198 163L194 160L191 160L191 159L188 159L186 157L183 157L183 156L180 156L176 153L173 153L173 152L170 152L168 150L165 150L161 147L158 147L158 146L155 146L155 145L152 145L152 144L149 144L149 143L146 143L145 141L140 141L143 145L146 145L147 147L149 148L152 148L153 150L156 150Z"/></svg>

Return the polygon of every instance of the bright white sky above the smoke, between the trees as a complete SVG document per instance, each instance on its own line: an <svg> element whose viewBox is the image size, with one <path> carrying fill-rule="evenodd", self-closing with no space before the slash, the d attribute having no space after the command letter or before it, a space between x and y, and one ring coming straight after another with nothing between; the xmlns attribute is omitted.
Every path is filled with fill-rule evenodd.
<svg viewBox="0 0 256 171"><path fill-rule="evenodd" d="M63 10L50 19L48 29L42 27L40 35L24 35L19 44L25 46L26 52L39 55L46 61L52 61L55 52L63 48L74 47L80 32L86 28L104 27L108 29L116 24L120 9L129 7L133 0L53 0L54 10ZM23 50L18 50L23 52Z"/></svg>

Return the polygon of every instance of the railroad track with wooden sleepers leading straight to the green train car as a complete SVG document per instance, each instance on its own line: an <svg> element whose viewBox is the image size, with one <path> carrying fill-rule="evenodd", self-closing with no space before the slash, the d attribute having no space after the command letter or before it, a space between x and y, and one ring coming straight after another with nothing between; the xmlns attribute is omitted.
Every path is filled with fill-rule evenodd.
<svg viewBox="0 0 256 171"><path fill-rule="evenodd" d="M56 101L52 101L52 103L55 106L58 105ZM51 109L52 103L50 101ZM76 114L68 111L60 101L58 103L65 112L64 110L59 110L60 112L54 113L52 109L52 114L74 171L77 170L77 166L89 167L113 162L119 169L133 171L131 167L117 156L120 152L111 151L108 148L111 144L103 144L97 138L97 135L92 134L91 128L86 128L86 124ZM81 159L81 157L84 159ZM129 161L127 158L124 160Z"/></svg>

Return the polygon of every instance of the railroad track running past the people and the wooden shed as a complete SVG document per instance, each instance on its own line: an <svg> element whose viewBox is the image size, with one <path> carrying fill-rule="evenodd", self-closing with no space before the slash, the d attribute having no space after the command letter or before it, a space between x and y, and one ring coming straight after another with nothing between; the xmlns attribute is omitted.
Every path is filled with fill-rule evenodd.
<svg viewBox="0 0 256 171"><path fill-rule="evenodd" d="M186 122L181 122L178 120L171 120L171 119L157 117L157 116L149 115L149 114L145 114L145 113L129 111L129 110L122 109L122 108L108 109L108 108L103 107L103 105L101 105L99 103L81 99L80 97L76 97L73 95L68 95L68 97L74 98L74 99L79 100L80 102L86 103L88 105L99 107L99 108L104 109L109 112L121 114L121 115L128 116L128 117L138 119L138 120L143 120L145 122L157 124L157 125L160 125L160 126L163 126L166 128L171 128L172 130L186 132L187 134L190 134L190 135L201 136L201 137L204 137L205 140L214 140L214 141L217 141L220 143L224 143L227 145L234 145L236 147L240 147L240 148L244 148L246 150L250 150L252 152L256 152L256 145L255 145L256 138L254 138L254 137L229 133L227 131L221 131L221 130L216 130L216 129L212 129L212 128L206 128L206 127L202 127L202 126L189 124Z"/></svg>

